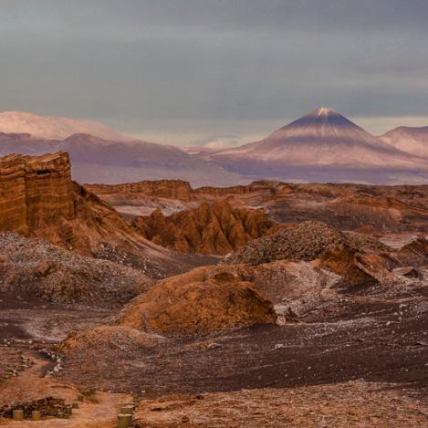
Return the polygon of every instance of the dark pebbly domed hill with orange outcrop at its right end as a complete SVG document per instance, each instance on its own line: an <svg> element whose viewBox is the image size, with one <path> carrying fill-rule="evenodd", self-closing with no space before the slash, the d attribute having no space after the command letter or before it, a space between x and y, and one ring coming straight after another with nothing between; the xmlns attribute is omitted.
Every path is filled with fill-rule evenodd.
<svg viewBox="0 0 428 428"><path fill-rule="evenodd" d="M307 260L339 276L337 287L370 287L387 282L398 266L391 248L357 233L341 233L327 224L304 222L291 230L256 239L225 258L228 264L268 266L275 260ZM263 288L262 288L263 289Z"/></svg>

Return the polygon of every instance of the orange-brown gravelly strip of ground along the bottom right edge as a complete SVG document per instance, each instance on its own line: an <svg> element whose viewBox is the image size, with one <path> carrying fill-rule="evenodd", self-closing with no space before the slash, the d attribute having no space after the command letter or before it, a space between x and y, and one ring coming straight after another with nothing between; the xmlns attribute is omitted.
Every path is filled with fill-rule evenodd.
<svg viewBox="0 0 428 428"><path fill-rule="evenodd" d="M428 426L428 407L396 385L349 381L295 389L165 396L141 402L138 426L384 427Z"/></svg>

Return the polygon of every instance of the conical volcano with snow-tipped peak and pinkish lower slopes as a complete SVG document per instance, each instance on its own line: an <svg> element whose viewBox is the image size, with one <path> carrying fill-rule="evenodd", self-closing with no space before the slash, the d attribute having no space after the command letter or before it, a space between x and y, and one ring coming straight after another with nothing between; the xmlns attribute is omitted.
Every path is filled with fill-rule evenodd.
<svg viewBox="0 0 428 428"><path fill-rule="evenodd" d="M320 108L262 141L204 156L229 171L306 182L425 182L428 161L372 136L335 110Z"/></svg>

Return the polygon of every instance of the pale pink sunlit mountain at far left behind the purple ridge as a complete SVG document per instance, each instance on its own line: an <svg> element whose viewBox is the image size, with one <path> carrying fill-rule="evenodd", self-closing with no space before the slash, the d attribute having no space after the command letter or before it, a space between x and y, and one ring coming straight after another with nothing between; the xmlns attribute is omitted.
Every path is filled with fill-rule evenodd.
<svg viewBox="0 0 428 428"><path fill-rule="evenodd" d="M28 133L36 138L55 140L63 140L76 133L88 133L105 140L134 140L97 121L37 116L25 111L0 113L0 132Z"/></svg>

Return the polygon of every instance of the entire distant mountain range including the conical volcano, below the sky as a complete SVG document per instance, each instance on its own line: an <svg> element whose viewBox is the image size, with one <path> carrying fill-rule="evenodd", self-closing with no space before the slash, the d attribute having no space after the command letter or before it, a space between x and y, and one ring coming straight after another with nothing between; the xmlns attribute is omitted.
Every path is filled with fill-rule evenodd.
<svg viewBox="0 0 428 428"><path fill-rule="evenodd" d="M183 150L132 139L98 122L20 112L1 113L0 132L0 155L67 151L81 183L428 183L428 127L401 127L378 138L326 107L229 149Z"/></svg>

